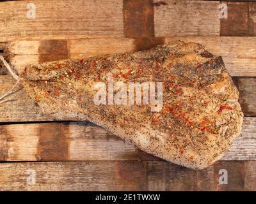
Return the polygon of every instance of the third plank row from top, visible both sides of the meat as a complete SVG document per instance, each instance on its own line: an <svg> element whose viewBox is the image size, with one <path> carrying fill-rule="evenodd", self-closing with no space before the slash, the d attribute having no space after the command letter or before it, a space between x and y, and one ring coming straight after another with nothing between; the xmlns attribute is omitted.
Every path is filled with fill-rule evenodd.
<svg viewBox="0 0 256 204"><path fill-rule="evenodd" d="M241 93L239 102L245 117L255 117L255 84L256 78L237 77L234 79ZM0 75L0 96L8 92L15 84L11 76ZM6 103L0 104L0 122L29 122L29 121L51 121L52 118L40 113L40 108L34 103L22 85L14 89L13 94L8 96Z"/></svg>

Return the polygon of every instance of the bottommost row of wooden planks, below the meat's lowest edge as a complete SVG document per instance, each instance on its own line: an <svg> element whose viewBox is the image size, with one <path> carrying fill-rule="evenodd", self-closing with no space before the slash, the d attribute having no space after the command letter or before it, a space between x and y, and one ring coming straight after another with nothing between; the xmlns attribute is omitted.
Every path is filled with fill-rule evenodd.
<svg viewBox="0 0 256 204"><path fill-rule="evenodd" d="M164 161L1 163L1 191L255 191L256 161L195 171ZM228 184L219 184L219 171Z"/></svg>

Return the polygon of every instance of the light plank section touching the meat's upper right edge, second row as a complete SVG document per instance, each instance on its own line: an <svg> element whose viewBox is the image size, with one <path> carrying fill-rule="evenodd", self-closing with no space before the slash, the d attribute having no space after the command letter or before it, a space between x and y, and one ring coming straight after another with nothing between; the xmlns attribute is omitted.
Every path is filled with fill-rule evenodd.
<svg viewBox="0 0 256 204"><path fill-rule="evenodd" d="M254 37L170 37L165 42L182 40L205 45L212 54L223 57L232 77L256 76L256 38Z"/></svg>

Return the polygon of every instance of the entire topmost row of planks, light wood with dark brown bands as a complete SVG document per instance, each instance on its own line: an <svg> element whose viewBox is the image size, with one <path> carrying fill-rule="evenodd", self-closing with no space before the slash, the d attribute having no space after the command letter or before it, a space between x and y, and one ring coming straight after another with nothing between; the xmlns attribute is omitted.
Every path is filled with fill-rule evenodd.
<svg viewBox="0 0 256 204"><path fill-rule="evenodd" d="M228 19L218 17L222 1L166 0L31 1L0 4L0 41L81 36L255 36L255 3L228 2ZM45 26L47 25L47 26Z"/></svg>

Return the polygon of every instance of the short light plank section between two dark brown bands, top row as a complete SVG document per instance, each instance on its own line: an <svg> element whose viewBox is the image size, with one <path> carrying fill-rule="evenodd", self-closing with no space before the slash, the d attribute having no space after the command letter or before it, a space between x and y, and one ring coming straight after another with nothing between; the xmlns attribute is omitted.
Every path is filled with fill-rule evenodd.
<svg viewBox="0 0 256 204"><path fill-rule="evenodd" d="M220 1L164 2L166 4L154 6L156 37L220 36Z"/></svg>

